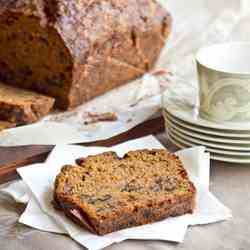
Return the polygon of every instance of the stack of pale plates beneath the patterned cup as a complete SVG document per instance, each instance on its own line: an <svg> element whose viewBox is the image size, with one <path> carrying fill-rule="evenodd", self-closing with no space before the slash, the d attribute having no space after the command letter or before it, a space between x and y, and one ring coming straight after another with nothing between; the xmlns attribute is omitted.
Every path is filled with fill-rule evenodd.
<svg viewBox="0 0 250 250"><path fill-rule="evenodd" d="M194 105L194 92L181 92L177 89L177 94L166 91L163 95L169 140L179 148L205 146L214 160L250 164L250 122L218 124L205 120Z"/></svg>

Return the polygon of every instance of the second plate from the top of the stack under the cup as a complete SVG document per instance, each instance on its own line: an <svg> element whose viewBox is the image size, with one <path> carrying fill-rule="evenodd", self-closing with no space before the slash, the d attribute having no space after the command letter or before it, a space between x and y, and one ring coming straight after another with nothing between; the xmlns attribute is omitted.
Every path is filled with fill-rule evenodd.
<svg viewBox="0 0 250 250"><path fill-rule="evenodd" d="M213 136L220 136L220 137L229 137L229 138L247 138L250 140L250 132L232 132L232 131L224 131L224 130L216 130L216 129L209 129L198 127L194 124L186 123L184 121L175 118L174 116L170 115L166 110L163 110L163 116L165 119L171 120L172 122L178 124L179 126L183 127L183 129L189 129L194 132L199 132L207 135Z"/></svg>

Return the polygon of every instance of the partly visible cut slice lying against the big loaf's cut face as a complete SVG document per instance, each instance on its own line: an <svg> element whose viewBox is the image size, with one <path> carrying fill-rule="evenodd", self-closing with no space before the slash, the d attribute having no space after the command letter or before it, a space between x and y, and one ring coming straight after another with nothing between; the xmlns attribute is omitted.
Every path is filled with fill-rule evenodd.
<svg viewBox="0 0 250 250"><path fill-rule="evenodd" d="M47 115L53 104L51 97L0 83L0 120L16 125L33 123Z"/></svg>

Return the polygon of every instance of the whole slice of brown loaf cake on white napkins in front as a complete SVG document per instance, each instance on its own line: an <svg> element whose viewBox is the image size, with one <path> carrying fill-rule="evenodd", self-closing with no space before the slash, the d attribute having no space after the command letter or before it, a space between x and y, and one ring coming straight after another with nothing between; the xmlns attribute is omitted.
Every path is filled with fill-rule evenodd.
<svg viewBox="0 0 250 250"><path fill-rule="evenodd" d="M64 166L54 201L66 216L104 235L192 213L196 189L181 161L166 150L108 152Z"/></svg>

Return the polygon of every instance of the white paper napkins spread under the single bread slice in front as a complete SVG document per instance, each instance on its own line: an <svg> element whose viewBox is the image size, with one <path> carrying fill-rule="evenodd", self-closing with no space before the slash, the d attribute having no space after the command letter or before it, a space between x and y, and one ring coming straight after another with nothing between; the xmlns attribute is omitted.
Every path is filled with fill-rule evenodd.
<svg viewBox="0 0 250 250"><path fill-rule="evenodd" d="M129 150L142 148L163 148L163 146L153 136L129 141L112 148L56 146L44 164L35 164L18 169L31 192L29 204L19 222L39 230L68 234L86 248L98 250L126 239L182 242L189 225L213 223L232 216L231 211L208 190L209 154L205 153L204 147L185 149L177 153L198 191L197 208L192 215L168 218L161 222L121 230L106 236L97 236L78 227L61 212L54 210L51 205L53 184L63 165L74 163L74 160L78 157L104 151L112 150L122 156ZM18 185L22 184L19 183ZM4 192L18 200L19 196L15 195L15 189L16 187L13 188L10 185L9 188L4 189Z"/></svg>

